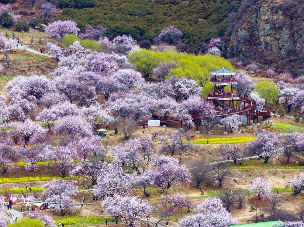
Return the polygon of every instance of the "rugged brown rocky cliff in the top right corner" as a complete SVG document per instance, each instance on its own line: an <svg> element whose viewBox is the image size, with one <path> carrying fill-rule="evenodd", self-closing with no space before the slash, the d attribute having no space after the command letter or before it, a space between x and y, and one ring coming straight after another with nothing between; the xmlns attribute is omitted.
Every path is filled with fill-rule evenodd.
<svg viewBox="0 0 304 227"><path fill-rule="evenodd" d="M224 36L226 57L261 62L303 75L303 0L251 2L235 18Z"/></svg>

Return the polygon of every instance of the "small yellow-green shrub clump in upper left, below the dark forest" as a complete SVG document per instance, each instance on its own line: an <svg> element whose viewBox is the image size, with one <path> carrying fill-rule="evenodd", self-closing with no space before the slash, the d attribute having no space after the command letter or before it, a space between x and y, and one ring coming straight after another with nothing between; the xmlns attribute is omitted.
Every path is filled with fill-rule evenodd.
<svg viewBox="0 0 304 227"><path fill-rule="evenodd" d="M72 45L75 41L79 41L80 45L84 47L85 49L90 49L90 50L96 50L96 51L102 51L102 45L99 42L96 42L94 40L88 40L88 39L81 39L78 38L76 35L69 34L64 36L62 39L61 45L68 47Z"/></svg>

